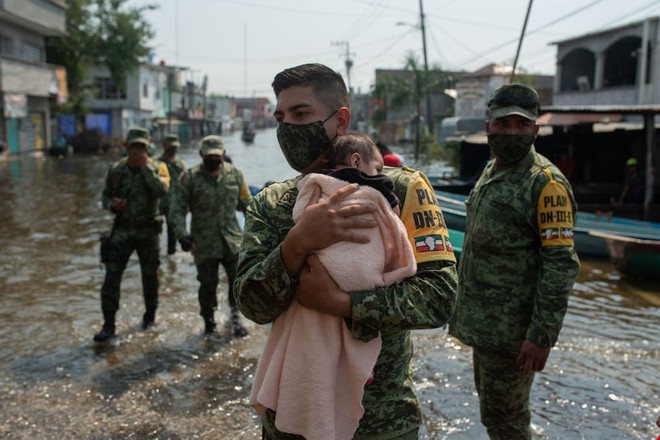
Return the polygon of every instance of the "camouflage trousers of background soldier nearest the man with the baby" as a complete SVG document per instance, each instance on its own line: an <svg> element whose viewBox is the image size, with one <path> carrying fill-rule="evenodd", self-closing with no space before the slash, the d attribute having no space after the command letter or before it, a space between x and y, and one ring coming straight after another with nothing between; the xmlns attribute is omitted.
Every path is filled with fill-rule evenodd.
<svg viewBox="0 0 660 440"><path fill-rule="evenodd" d="M220 278L218 270L220 265L224 267L227 273L227 283L229 284L227 296L229 306L236 307L234 299L234 279L236 278L236 265L238 264L238 255L227 255L222 258L195 258L197 266L197 281L199 281L199 314L205 318L213 317L213 312L218 307L217 289Z"/></svg>

